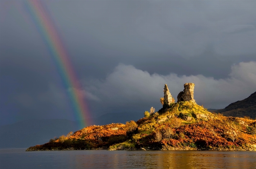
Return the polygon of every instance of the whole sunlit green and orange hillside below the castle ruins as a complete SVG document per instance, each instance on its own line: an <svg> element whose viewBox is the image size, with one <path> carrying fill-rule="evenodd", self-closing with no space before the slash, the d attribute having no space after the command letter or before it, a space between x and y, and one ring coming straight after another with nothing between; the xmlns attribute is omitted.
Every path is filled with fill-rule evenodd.
<svg viewBox="0 0 256 169"><path fill-rule="evenodd" d="M89 126L33 150L256 150L256 120L212 114L192 103L173 103L126 125Z"/></svg>

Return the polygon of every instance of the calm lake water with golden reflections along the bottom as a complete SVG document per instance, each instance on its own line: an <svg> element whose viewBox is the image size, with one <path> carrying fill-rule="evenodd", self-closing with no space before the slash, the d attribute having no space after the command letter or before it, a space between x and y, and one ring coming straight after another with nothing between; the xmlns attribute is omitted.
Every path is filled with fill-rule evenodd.
<svg viewBox="0 0 256 169"><path fill-rule="evenodd" d="M0 169L256 169L249 151L36 151L1 149Z"/></svg>

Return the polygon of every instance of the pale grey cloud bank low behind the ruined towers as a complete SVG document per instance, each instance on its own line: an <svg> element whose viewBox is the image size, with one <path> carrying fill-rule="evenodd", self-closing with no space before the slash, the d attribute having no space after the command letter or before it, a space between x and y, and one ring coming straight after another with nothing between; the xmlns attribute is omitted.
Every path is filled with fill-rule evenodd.
<svg viewBox="0 0 256 169"><path fill-rule="evenodd" d="M93 80L86 91L100 98L104 107L136 111L151 106L161 108L164 84L176 98L184 83L195 83L195 100L206 108L224 108L256 91L256 62L242 62L231 67L229 78L214 79L203 75L178 76L150 74L131 65L119 64L105 80Z"/></svg>

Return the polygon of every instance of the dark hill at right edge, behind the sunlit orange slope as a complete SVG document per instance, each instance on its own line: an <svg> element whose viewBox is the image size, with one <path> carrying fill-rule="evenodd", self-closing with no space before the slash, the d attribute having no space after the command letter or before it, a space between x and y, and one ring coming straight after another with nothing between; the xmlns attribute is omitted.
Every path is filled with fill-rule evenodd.
<svg viewBox="0 0 256 169"><path fill-rule="evenodd" d="M256 92L254 92L244 100L231 103L224 109L219 109L215 112L220 112L224 116L233 116L233 117L249 116L250 118L255 119L256 118Z"/></svg>

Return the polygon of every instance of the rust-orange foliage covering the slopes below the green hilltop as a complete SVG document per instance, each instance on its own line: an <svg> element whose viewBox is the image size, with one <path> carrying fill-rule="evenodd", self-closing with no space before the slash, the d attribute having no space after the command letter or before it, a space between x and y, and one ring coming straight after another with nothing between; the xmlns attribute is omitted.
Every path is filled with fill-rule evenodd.
<svg viewBox="0 0 256 169"><path fill-rule="evenodd" d="M170 113L170 112L169 112ZM210 112L209 112L210 113ZM32 150L57 149L69 147L79 149L108 148L124 141L131 141L135 147L241 147L256 144L256 121L253 119L215 115L207 121L194 120L185 123L174 116L164 122L157 122L158 116L139 119L137 122L89 126L68 134L63 141L49 141L36 145ZM156 150L156 149L153 149Z"/></svg>

